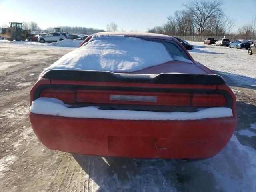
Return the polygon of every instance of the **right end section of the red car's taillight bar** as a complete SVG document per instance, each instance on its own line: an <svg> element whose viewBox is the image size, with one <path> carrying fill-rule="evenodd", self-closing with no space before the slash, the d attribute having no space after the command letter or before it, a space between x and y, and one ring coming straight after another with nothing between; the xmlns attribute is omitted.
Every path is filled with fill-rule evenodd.
<svg viewBox="0 0 256 192"><path fill-rule="evenodd" d="M192 106L194 107L213 107L225 106L226 98L221 94L194 94L192 99Z"/></svg>

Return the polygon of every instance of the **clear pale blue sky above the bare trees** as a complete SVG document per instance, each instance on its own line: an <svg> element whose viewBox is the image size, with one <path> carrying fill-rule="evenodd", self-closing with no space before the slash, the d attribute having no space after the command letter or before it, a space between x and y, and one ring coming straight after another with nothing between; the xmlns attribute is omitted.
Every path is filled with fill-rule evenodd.
<svg viewBox="0 0 256 192"><path fill-rule="evenodd" d="M146 31L164 24L175 10L184 9L190 0L0 0L0 26L9 22L36 22L49 26L84 26L106 30L110 22L118 30ZM54 3L53 3L54 2ZM256 16L256 0L224 0L224 12L237 20L238 27Z"/></svg>

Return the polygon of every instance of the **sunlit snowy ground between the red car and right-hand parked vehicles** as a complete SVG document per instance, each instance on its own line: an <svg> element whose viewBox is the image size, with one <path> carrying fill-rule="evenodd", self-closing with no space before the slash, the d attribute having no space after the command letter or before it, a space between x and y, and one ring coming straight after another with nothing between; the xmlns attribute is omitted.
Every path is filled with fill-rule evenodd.
<svg viewBox="0 0 256 192"><path fill-rule="evenodd" d="M188 50L194 60L218 74L227 76L240 85L256 86L256 55L248 55L246 49L204 45L190 42L193 50Z"/></svg>

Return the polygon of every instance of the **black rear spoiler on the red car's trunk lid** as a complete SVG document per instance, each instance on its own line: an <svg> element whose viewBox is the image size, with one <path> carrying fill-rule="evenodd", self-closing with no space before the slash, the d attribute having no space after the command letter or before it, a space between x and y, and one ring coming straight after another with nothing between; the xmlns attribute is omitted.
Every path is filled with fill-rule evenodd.
<svg viewBox="0 0 256 192"><path fill-rule="evenodd" d="M202 84L221 85L225 80L216 74L126 74L108 71L49 70L43 78L51 80L79 80L98 82L156 83L156 84Z"/></svg>

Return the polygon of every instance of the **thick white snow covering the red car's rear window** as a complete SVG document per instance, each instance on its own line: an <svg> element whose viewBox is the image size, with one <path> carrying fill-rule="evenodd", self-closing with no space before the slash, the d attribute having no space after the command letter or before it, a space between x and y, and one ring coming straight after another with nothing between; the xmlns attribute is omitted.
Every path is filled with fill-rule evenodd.
<svg viewBox="0 0 256 192"><path fill-rule="evenodd" d="M174 60L162 43L125 37L124 33L116 35L120 33L94 35L80 48L62 56L42 74L53 69L133 72ZM164 35L157 34L155 37L164 37ZM188 62L192 61L188 60Z"/></svg>

